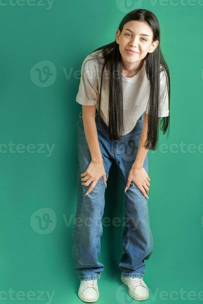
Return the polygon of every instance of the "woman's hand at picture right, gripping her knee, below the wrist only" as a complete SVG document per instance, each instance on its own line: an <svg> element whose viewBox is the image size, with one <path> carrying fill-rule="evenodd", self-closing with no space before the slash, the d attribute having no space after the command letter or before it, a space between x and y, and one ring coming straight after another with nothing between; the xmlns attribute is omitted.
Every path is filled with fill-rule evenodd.
<svg viewBox="0 0 203 304"><path fill-rule="evenodd" d="M131 182L133 182L139 188L139 190L142 192L142 194L147 199L149 199L148 195L147 195L149 192L149 186L150 186L149 181L150 181L150 178L149 178L145 168L140 167L136 164L133 164L133 166L129 172L128 183L125 187L124 192L126 193Z"/></svg>

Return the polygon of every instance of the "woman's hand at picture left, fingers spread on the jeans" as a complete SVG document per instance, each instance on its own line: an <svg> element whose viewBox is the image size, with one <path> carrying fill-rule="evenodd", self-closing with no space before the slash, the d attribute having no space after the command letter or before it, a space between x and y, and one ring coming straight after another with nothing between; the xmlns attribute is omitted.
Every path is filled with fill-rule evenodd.
<svg viewBox="0 0 203 304"><path fill-rule="evenodd" d="M82 185L83 186L89 186L89 184L92 182L92 185L89 187L85 195L88 195L96 186L97 181L103 177L104 184L106 185L106 171L104 169L103 161L102 162L96 162L92 161L89 163L88 168L84 173L80 175Z"/></svg>

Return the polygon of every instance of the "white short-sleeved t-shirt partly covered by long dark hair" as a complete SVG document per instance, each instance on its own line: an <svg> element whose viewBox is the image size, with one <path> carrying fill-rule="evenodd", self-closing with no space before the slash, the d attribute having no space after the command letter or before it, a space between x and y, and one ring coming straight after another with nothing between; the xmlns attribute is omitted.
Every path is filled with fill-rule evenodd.
<svg viewBox="0 0 203 304"><path fill-rule="evenodd" d="M95 55L95 51L92 55ZM97 59L92 58L89 54L84 60L81 67L81 78L79 84L79 91L76 96L76 101L81 105L95 105L97 110L99 108L99 92L101 84L101 74L99 73L101 65L98 64ZM99 54L101 56L101 54ZM87 62L86 62L87 61ZM103 58L99 58L99 61L103 62ZM85 64L85 66L84 66ZM146 61L142 65L138 74L129 78L122 75L123 79L123 115L124 115L124 135L128 134L135 127L138 118L145 112L149 114L147 102L149 99L150 81L146 74ZM103 121L108 126L108 70L105 66L102 92L101 92L101 104L100 115ZM159 117L169 116L168 105L168 91L165 73L160 73L160 113Z"/></svg>

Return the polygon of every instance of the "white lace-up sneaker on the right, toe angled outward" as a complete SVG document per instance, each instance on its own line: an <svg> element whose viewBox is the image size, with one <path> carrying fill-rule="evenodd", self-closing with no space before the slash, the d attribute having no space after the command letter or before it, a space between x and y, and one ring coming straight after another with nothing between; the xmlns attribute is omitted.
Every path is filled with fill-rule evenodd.
<svg viewBox="0 0 203 304"><path fill-rule="evenodd" d="M141 278L126 278L121 274L121 281L128 286L129 296L134 300L143 301L149 297L149 289Z"/></svg>

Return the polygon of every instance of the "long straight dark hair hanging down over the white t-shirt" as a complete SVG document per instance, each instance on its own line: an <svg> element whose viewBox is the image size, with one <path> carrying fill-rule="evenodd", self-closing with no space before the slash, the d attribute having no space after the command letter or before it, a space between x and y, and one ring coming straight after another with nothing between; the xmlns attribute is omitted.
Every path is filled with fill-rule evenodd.
<svg viewBox="0 0 203 304"><path fill-rule="evenodd" d="M140 22L147 22L151 27L153 32L152 41L158 40L159 44L156 49L147 53L144 60L146 61L146 74L150 81L150 94L147 106L149 106L149 116L148 116L148 130L147 139L144 143L145 149L156 150L159 137L159 126L163 134L167 131L169 134L169 116L158 117L160 110L160 72L164 69L164 73L167 79L168 87L168 98L170 107L170 75L168 65L166 64L164 57L160 51L160 26L156 16L148 10L137 9L129 12L120 22L119 28L122 32L124 25L131 21L137 20ZM116 42L111 42L102 47L97 48L96 58L99 58L99 54L102 54L100 58L104 59L102 63L102 73L101 73L101 89L103 72L105 66L108 66L109 71L109 107L108 107L108 137L109 140L120 140L121 136L124 134L124 121L123 121L123 91L122 91L122 61L121 54L119 50L119 44ZM93 56L92 56L93 57ZM91 60L91 59L89 59ZM99 62L99 61L98 61ZM160 70L160 66L162 70ZM115 77L116 75L116 77ZM101 103L101 90L99 97L99 115L98 121L100 122L100 103ZM160 119L160 120L159 120ZM101 126L102 127L102 126ZM168 136L167 134L167 136Z"/></svg>

